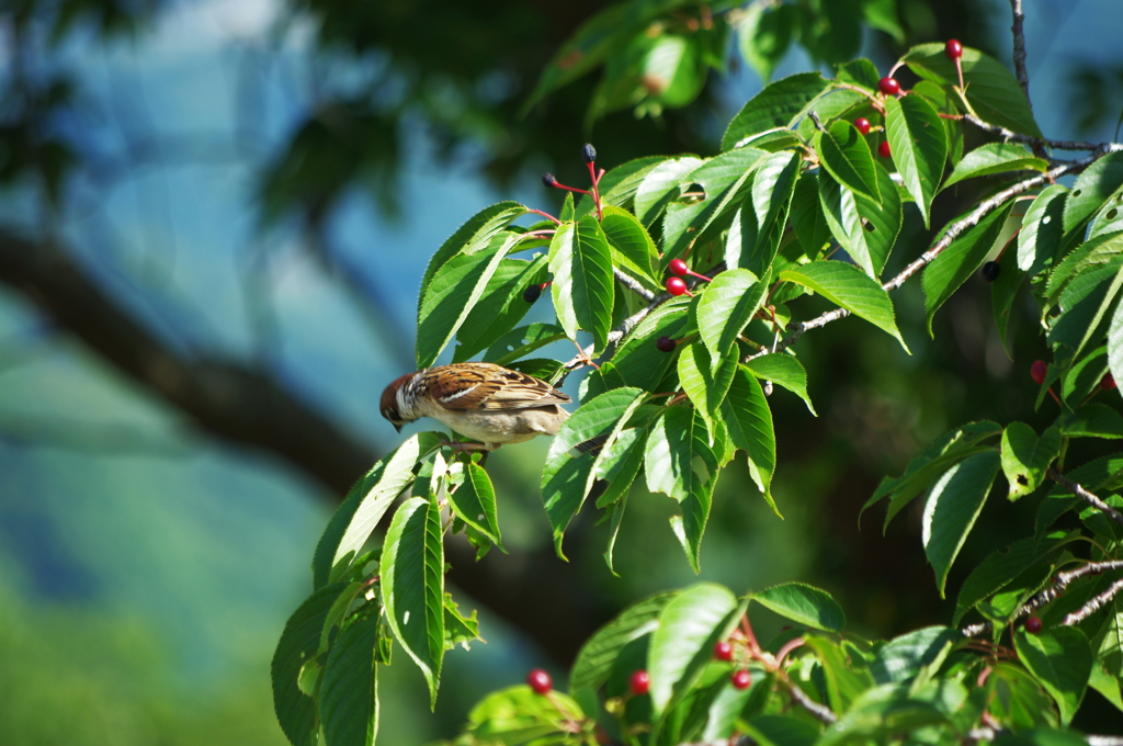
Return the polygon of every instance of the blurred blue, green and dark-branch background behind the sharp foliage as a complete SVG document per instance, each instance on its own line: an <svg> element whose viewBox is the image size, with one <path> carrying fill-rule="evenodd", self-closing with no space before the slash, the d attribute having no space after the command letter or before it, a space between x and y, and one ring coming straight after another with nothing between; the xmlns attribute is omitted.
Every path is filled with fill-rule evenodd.
<svg viewBox="0 0 1123 746"><path fill-rule="evenodd" d="M520 119L554 49L602 4L0 3L0 743L283 743L268 659L325 521L399 439L377 397L412 370L431 253L500 199L557 209L538 175L581 183L586 140L605 166L713 153L763 84L734 62L684 110L588 131L585 79ZM949 37L1011 57L1003 0L897 6L905 45L864 36L882 70ZM1042 130L1116 138L1119 0L1025 10ZM814 66L793 48L775 76ZM970 197L938 201L933 225ZM906 217L898 266L931 239ZM816 583L868 636L947 621L919 515L883 536L884 513L859 528L858 510L951 425L1038 424L1026 371L1046 349L1020 309L1006 355L982 282L941 311L934 342L919 283L895 302L912 357L853 319L800 343L819 417L772 399L785 520L731 468L703 577ZM454 592L487 644L449 655L436 713L399 656L383 743L454 735L483 691L532 665L560 674L615 610L694 577L661 497L631 501L619 576L592 515L557 560L537 497L545 451L489 464L512 554L476 564L450 547ZM976 531L1016 538L1031 522L993 499ZM960 566L983 552L969 542Z"/></svg>

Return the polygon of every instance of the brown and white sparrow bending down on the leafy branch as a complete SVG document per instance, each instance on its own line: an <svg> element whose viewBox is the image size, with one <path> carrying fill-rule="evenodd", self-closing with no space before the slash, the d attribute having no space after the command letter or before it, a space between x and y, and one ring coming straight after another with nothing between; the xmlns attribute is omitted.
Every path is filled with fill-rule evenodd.
<svg viewBox="0 0 1123 746"><path fill-rule="evenodd" d="M557 435L572 401L549 383L493 363L454 363L407 373L382 392L382 416L400 433L431 417L480 444L462 451L495 451L539 435Z"/></svg>

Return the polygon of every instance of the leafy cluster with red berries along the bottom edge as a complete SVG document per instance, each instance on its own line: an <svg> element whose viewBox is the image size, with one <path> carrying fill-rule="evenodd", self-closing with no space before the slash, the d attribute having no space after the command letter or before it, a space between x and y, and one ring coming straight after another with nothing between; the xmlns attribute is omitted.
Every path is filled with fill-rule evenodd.
<svg viewBox="0 0 1123 746"><path fill-rule="evenodd" d="M796 626L759 643L752 602ZM713 583L655 595L588 639L567 695L527 685L494 692L453 743L958 744L985 738L982 724L1019 731L999 744L1085 743L1058 729L1093 671L1072 628L1019 630L1008 651L951 627L869 642L844 626L830 594L800 583L740 599ZM725 640L728 661L715 649ZM648 692L630 688L637 671L648 673ZM734 683L738 671L749 673L748 686ZM1113 681L1096 671L1093 685Z"/></svg>

